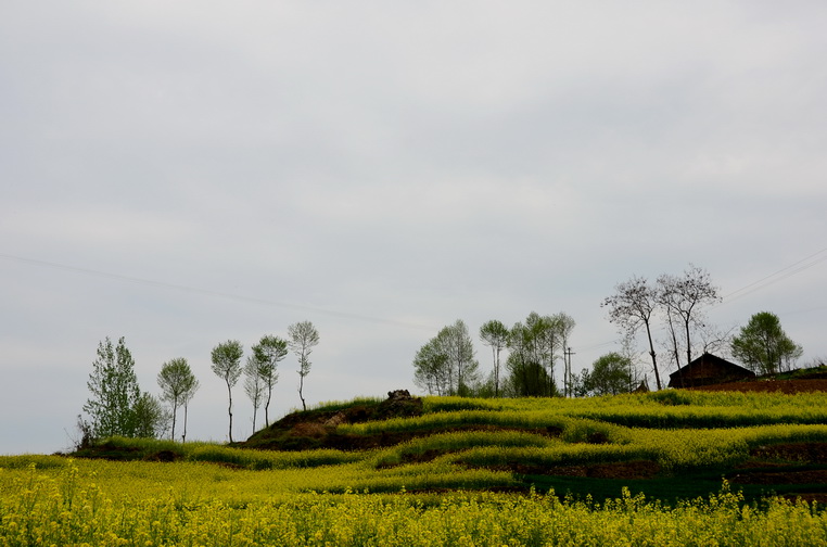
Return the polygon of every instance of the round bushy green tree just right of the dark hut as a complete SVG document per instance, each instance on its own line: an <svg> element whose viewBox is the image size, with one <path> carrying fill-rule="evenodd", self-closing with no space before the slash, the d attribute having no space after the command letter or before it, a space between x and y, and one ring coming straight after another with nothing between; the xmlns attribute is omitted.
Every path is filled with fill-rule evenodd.
<svg viewBox="0 0 827 547"><path fill-rule="evenodd" d="M737 359L759 374L789 370L804 353L784 331L778 316L769 311L753 315L730 347Z"/></svg>

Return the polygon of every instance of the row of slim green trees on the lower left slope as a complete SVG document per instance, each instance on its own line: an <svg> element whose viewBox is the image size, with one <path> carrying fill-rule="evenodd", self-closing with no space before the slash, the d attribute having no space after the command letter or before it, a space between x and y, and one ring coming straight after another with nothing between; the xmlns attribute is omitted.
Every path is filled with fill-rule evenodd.
<svg viewBox="0 0 827 547"><path fill-rule="evenodd" d="M244 376L244 392L253 403L253 431L258 409L264 405L265 423L269 425L269 407L272 390L278 382L278 364L292 351L298 359L298 397L304 398L305 378L310 372L309 356L319 343L319 333L310 321L302 321L288 328L288 339L265 335L253 345L244 366L241 360L244 348L241 342L228 340L215 346L211 353L213 372L225 381L229 399L229 440L232 442L232 389ZM183 357L162 365L157 374L161 396L142 392L135 373L135 359L122 336L116 345L107 336L99 343L98 357L92 364L87 386L89 398L82 409L88 419L78 417L82 435L81 444L94 438L113 435L128 437L163 436L167 431L176 438L177 416L183 408L183 434L187 438L188 407L200 382ZM163 403L168 406L165 407Z"/></svg>

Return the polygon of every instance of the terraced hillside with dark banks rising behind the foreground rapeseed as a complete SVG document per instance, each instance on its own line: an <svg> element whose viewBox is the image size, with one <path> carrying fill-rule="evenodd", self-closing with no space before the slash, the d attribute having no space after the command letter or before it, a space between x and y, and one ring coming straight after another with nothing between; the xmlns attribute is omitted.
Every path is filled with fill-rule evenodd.
<svg viewBox="0 0 827 547"><path fill-rule="evenodd" d="M659 499L827 499L827 395L663 391L585 399L358 399L291 414L231 447L110 440L76 456L315 469L327 492L554 491ZM326 469L326 479L320 470Z"/></svg>

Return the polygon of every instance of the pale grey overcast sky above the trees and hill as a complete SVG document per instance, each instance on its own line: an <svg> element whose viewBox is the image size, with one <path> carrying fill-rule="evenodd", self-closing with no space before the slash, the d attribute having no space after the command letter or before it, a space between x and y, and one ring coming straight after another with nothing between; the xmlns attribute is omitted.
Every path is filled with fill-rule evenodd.
<svg viewBox="0 0 827 547"><path fill-rule="evenodd" d="M618 282L689 263L710 322L771 310L827 356L825 28L822 1L3 1L0 454L71 445L105 336L152 393L187 358L189 438L220 442L228 339L313 321L317 404L416 391L457 319L487 371L484 321L565 311L577 371L619 348Z"/></svg>

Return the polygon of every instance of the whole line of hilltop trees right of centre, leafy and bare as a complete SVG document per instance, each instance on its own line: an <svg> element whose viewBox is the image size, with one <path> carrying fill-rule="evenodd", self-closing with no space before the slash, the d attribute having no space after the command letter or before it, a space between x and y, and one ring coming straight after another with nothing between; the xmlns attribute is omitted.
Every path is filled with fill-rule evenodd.
<svg viewBox="0 0 827 547"><path fill-rule="evenodd" d="M663 387L659 355L665 357L670 369L678 369L700 352L731 354L756 373L789 370L801 357L801 346L789 339L778 317L768 311L752 316L738 335L708 325L707 310L721 300L709 272L691 264L682 275L664 274L653 283L642 277L619 283L601 306L624 335L623 349L601 356L580 374L571 372L569 347L575 322L564 313L540 316L532 311L510 328L499 320L484 323L479 336L491 348L493 362L486 378L474 358L468 327L457 320L419 348L413 358L413 382L436 395L584 396L629 392L646 382L634 347L640 331L646 335L658 390ZM660 340L656 333L661 334ZM505 370L504 352L508 352ZM562 392L557 384L561 368Z"/></svg>

